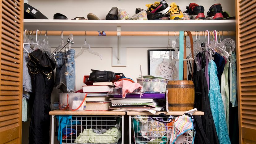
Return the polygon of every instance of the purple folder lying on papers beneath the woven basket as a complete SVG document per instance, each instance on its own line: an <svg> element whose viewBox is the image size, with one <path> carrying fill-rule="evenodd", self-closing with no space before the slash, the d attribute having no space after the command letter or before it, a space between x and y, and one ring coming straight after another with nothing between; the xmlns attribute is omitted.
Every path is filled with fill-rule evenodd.
<svg viewBox="0 0 256 144"><path fill-rule="evenodd" d="M128 94L126 98L139 98L140 94ZM122 98L122 95L114 95L114 98ZM147 99L165 99L165 93L145 93L141 98Z"/></svg>

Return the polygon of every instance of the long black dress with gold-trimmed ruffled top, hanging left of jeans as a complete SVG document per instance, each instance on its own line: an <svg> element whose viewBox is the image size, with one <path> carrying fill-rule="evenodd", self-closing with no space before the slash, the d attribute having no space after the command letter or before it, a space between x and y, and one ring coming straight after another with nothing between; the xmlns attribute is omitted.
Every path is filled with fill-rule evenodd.
<svg viewBox="0 0 256 144"><path fill-rule="evenodd" d="M29 53L28 68L34 74L34 102L29 126L29 144L49 143L51 93L54 78L53 61L40 49Z"/></svg>

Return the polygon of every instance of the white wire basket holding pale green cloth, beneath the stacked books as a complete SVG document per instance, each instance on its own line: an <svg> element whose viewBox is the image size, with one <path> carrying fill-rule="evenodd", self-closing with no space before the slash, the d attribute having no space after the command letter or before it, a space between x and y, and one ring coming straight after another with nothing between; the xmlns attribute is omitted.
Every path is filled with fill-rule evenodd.
<svg viewBox="0 0 256 144"><path fill-rule="evenodd" d="M62 143L113 143L122 136L122 116L72 116L71 125L62 129Z"/></svg>

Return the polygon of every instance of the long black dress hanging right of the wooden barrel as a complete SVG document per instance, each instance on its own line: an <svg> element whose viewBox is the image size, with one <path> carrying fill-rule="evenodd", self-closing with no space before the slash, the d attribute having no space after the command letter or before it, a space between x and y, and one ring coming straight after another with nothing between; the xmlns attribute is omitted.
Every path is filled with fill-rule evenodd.
<svg viewBox="0 0 256 144"><path fill-rule="evenodd" d="M198 61L200 61L199 64L200 64L201 70L197 72L196 64L194 62L194 74L192 78L192 81L195 86L194 108L197 108L198 111L204 112L204 115L202 116L202 125L203 125L204 133L206 134L206 138L210 141L211 144L219 144L219 139L217 136L215 124L214 124L212 113L211 113L210 100L208 97L208 85L207 85L206 78L204 76L204 72L202 70L202 65L205 66L205 64L203 64L203 61L205 60L202 60L202 59L204 59L205 56L204 55L202 56L202 54L199 53L198 58L199 58ZM191 78L190 71L189 71L189 75ZM202 137L202 136L196 134L196 137ZM197 139L199 140L200 138L197 138Z"/></svg>

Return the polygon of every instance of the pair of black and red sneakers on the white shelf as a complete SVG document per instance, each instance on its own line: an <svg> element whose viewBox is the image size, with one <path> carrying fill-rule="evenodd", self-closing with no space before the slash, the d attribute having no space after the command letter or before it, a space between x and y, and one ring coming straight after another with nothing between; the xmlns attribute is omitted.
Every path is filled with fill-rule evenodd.
<svg viewBox="0 0 256 144"><path fill-rule="evenodd" d="M204 15L204 7L199 6L196 3L190 3L186 9L186 13L189 15L190 19L224 19L220 3L214 4L210 7L207 12L207 17Z"/></svg>

